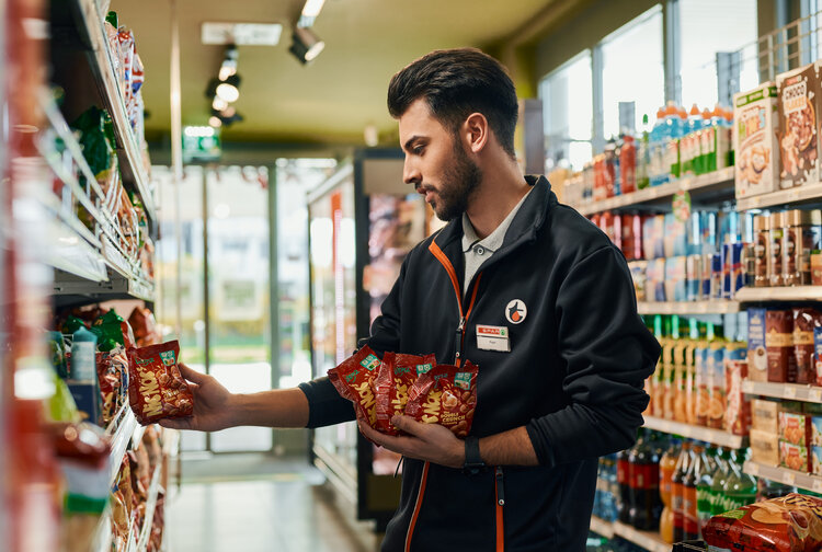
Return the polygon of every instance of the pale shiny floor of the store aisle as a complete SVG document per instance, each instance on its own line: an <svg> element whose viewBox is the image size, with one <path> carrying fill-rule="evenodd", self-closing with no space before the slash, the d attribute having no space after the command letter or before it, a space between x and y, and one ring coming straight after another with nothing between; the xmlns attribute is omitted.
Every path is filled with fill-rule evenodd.
<svg viewBox="0 0 822 552"><path fill-rule="evenodd" d="M169 490L167 552L375 552L379 536L357 521L305 460L265 455L187 459Z"/></svg>

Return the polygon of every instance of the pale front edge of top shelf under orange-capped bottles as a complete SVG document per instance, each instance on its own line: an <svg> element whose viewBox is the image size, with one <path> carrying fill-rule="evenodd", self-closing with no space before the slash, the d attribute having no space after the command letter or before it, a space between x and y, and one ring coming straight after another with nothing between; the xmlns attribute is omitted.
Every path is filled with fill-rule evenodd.
<svg viewBox="0 0 822 552"><path fill-rule="evenodd" d="M680 191L710 192L724 188L728 188L729 192L733 189L733 166L721 169L710 174L689 176L661 186L647 187L644 189L631 192L630 194L623 194L600 202L580 205L576 210L582 215L593 215L594 212L609 209L658 203L673 197L674 194Z"/></svg>

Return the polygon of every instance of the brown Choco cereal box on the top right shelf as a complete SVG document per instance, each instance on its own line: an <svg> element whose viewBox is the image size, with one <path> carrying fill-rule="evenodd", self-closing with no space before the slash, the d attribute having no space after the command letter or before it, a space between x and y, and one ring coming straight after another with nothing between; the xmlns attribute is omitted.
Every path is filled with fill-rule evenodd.
<svg viewBox="0 0 822 552"><path fill-rule="evenodd" d="M819 181L817 70L817 66L811 64L776 78L779 95L779 183L783 188Z"/></svg>

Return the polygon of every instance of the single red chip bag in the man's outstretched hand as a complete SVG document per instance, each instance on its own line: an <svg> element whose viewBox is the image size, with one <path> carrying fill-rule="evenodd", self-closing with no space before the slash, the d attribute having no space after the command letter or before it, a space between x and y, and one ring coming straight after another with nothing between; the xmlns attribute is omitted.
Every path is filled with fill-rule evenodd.
<svg viewBox="0 0 822 552"><path fill-rule="evenodd" d="M176 340L128 349L128 402L140 424L191 416L194 411L194 395L176 366L179 357Z"/></svg>

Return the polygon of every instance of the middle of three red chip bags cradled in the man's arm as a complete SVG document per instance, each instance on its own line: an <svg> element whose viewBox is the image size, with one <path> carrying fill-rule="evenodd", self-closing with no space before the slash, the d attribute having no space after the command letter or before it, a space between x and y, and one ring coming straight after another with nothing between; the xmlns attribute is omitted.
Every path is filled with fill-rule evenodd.
<svg viewBox="0 0 822 552"><path fill-rule="evenodd" d="M421 373L436 366L434 355L415 356L386 353L379 365L379 373L374 380L377 393L377 429L388 435L399 435L391 425L391 417L402 414L408 402L408 393Z"/></svg>

